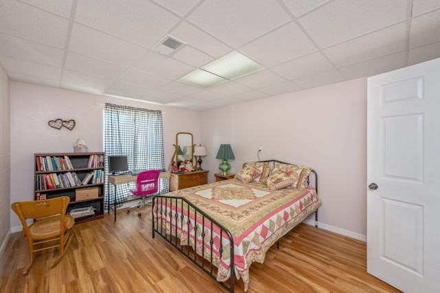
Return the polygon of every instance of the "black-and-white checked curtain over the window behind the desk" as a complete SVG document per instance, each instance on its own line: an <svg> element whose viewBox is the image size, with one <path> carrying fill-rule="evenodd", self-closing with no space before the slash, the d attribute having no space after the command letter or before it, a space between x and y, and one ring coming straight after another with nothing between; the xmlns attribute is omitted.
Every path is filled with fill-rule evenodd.
<svg viewBox="0 0 440 293"><path fill-rule="evenodd" d="M109 155L126 155L129 169L164 169L164 129L162 111L149 110L106 103L104 108L104 151L106 182ZM109 184L107 184L109 186ZM121 205L131 195L130 188L135 182L119 184L117 194L114 188L107 188L105 208L110 201ZM166 178L159 179L157 193L168 192Z"/></svg>

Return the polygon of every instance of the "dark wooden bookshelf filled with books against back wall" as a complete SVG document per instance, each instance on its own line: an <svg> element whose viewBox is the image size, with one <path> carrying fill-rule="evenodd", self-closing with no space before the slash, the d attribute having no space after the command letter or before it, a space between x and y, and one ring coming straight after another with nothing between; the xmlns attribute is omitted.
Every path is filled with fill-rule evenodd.
<svg viewBox="0 0 440 293"><path fill-rule="evenodd" d="M96 195L97 191L98 197L87 198L86 194L86 199L77 200L77 191L83 195L89 191ZM76 224L104 217L104 153L35 153L34 200L41 195L70 197L67 213L87 206L95 208L95 215L75 219Z"/></svg>

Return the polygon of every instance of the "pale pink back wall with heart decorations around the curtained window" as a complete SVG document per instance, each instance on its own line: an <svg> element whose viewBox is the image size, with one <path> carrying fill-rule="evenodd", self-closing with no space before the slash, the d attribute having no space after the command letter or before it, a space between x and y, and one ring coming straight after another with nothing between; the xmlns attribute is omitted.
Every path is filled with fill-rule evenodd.
<svg viewBox="0 0 440 293"><path fill-rule="evenodd" d="M162 110L164 119L165 163L171 160L177 132L190 132L194 143L201 143L201 112L151 103L84 94L27 83L10 83L11 97L11 202L32 200L34 153L74 151L77 138L85 138L89 151L103 151L103 105L118 105ZM72 131L54 129L47 122L73 119ZM10 207L9 207L10 208ZM20 226L17 215L10 216L10 226Z"/></svg>

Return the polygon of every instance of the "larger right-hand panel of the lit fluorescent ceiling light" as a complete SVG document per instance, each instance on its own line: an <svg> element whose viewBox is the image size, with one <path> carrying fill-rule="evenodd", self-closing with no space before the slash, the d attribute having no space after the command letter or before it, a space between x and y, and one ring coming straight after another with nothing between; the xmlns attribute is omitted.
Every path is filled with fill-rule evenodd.
<svg viewBox="0 0 440 293"><path fill-rule="evenodd" d="M239 52L232 51L229 54L201 67L201 69L206 70L207 72L212 72L212 74L218 76L223 76L229 80L233 80L241 76L258 72L261 69L264 69L264 67Z"/></svg>

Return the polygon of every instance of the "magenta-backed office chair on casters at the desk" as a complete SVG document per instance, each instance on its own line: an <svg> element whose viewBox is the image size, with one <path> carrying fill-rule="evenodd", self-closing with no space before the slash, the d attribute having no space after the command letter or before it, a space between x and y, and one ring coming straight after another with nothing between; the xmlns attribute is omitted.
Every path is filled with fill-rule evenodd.
<svg viewBox="0 0 440 293"><path fill-rule="evenodd" d="M136 189L130 189L130 192L133 193L133 196L142 197L142 202L130 207L139 208L139 210L137 210L137 216L142 216L140 210L146 205L146 198L151 199L153 197L153 193L157 193L158 185L159 170L142 171L139 173L139 175L137 175ZM126 211L127 214L130 213L130 208Z"/></svg>

